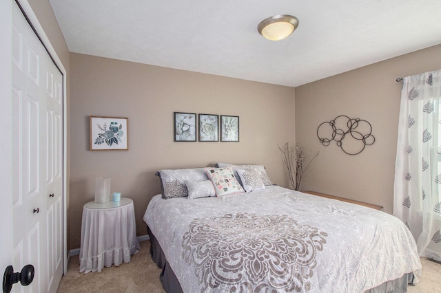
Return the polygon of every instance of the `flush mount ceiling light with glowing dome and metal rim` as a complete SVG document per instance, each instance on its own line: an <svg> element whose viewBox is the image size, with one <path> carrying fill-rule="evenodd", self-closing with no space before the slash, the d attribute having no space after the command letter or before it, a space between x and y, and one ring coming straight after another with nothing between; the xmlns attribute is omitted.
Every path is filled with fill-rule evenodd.
<svg viewBox="0 0 441 293"><path fill-rule="evenodd" d="M257 30L265 39L279 41L292 34L297 27L297 17L278 14L274 15L274 17L268 17L267 19L260 21Z"/></svg>

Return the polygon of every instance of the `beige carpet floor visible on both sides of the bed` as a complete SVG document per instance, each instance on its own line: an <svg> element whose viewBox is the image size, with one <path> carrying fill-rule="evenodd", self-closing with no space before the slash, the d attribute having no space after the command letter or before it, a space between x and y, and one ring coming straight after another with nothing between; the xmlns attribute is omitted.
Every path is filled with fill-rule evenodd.
<svg viewBox="0 0 441 293"><path fill-rule="evenodd" d="M424 258L421 262L420 283L409 286L408 292L441 293L441 265ZM130 263L103 268L101 273L80 273L79 257L71 257L68 273L61 279L57 292L163 293L159 274L161 269L150 257L150 241L143 241L141 250L132 256Z"/></svg>

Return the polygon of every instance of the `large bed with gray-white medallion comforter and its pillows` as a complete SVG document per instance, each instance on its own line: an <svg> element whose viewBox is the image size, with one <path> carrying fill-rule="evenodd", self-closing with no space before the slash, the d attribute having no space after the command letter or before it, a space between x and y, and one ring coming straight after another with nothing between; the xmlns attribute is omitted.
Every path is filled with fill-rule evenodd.
<svg viewBox="0 0 441 293"><path fill-rule="evenodd" d="M166 292L406 292L421 269L398 218L216 166L156 173L144 221Z"/></svg>

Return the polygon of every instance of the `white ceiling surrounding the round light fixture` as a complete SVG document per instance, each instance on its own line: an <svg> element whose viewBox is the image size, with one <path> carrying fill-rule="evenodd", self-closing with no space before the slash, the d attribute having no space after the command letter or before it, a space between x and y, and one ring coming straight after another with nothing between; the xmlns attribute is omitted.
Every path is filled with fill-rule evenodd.
<svg viewBox="0 0 441 293"><path fill-rule="evenodd" d="M440 0L49 1L70 52L291 87L441 43ZM283 41L257 32L275 14Z"/></svg>

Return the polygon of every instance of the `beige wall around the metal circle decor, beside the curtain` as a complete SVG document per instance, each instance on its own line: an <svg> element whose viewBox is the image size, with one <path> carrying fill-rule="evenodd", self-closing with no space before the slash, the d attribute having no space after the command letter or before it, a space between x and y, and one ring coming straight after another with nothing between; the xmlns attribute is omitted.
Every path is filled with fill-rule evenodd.
<svg viewBox="0 0 441 293"><path fill-rule="evenodd" d="M296 141L320 151L301 190L384 206L392 213L398 114L396 78L441 68L441 45L296 87ZM346 115L371 123L376 142L359 155L320 144L320 123ZM343 140L345 142L345 140Z"/></svg>

